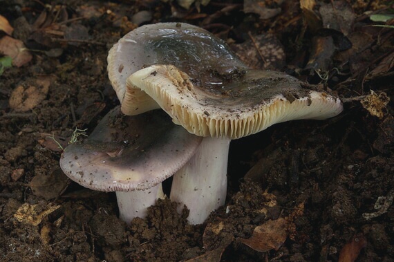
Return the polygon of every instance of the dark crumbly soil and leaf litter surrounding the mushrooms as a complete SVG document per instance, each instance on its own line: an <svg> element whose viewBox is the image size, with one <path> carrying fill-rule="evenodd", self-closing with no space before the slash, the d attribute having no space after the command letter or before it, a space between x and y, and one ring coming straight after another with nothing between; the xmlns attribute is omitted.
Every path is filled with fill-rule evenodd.
<svg viewBox="0 0 394 262"><path fill-rule="evenodd" d="M1 261L394 261L393 6L0 6ZM61 147L118 104L109 48L159 21L203 26L250 66L285 71L344 101L336 118L234 140L226 204L203 225L189 225L187 210L178 214L169 200L126 225L114 194L84 189L59 169Z"/></svg>

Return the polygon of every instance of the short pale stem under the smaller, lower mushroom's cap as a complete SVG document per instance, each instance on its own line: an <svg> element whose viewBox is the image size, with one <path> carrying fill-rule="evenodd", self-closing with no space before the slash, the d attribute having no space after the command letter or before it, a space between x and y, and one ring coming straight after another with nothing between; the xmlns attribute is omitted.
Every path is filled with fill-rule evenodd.
<svg viewBox="0 0 394 262"><path fill-rule="evenodd" d="M130 224L135 217L144 218L148 214L148 207L156 204L158 198L164 198L162 184L146 190L116 191L119 216L122 221Z"/></svg>

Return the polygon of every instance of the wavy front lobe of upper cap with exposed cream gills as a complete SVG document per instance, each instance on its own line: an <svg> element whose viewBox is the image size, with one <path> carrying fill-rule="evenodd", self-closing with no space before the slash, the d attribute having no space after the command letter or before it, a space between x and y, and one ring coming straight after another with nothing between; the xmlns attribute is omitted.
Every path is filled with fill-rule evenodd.
<svg viewBox="0 0 394 262"><path fill-rule="evenodd" d="M133 73L127 84L147 93L173 122L199 136L242 138L272 124L323 120L343 109L339 98L284 73L245 69L209 74L214 84L195 84L176 66L154 65Z"/></svg>

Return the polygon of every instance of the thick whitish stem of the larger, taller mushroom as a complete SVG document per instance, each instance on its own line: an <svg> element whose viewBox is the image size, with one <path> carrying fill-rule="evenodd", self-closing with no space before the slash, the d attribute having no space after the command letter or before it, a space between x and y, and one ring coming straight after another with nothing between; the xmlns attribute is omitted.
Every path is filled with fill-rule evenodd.
<svg viewBox="0 0 394 262"><path fill-rule="evenodd" d="M203 138L194 156L173 176L171 200L189 209L187 220L201 224L225 203L229 138Z"/></svg>

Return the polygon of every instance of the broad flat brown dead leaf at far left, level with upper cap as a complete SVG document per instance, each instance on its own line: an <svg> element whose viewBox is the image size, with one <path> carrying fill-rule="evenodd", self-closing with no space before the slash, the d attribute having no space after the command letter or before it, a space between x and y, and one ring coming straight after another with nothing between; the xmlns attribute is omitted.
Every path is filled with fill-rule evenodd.
<svg viewBox="0 0 394 262"><path fill-rule="evenodd" d="M50 77L32 79L17 86L10 95L9 104L11 109L21 112L33 109L46 98L49 86Z"/></svg>

